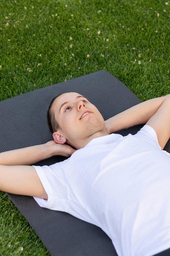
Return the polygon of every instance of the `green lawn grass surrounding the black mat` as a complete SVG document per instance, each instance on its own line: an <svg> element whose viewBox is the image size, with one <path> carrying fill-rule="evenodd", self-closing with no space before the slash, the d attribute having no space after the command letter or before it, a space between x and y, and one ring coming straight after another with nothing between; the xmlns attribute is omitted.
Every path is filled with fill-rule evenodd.
<svg viewBox="0 0 170 256"><path fill-rule="evenodd" d="M170 93L167 3L0 0L0 100L102 69L142 101ZM4 193L0 255L49 255Z"/></svg>

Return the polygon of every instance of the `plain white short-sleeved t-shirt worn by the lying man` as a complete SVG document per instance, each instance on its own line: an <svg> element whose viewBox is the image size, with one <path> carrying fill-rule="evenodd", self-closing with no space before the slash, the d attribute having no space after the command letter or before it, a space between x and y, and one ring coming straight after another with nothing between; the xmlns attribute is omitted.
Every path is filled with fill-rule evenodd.
<svg viewBox="0 0 170 256"><path fill-rule="evenodd" d="M48 194L38 204L101 227L119 256L170 248L170 157L150 126L95 138L63 162L34 167Z"/></svg>

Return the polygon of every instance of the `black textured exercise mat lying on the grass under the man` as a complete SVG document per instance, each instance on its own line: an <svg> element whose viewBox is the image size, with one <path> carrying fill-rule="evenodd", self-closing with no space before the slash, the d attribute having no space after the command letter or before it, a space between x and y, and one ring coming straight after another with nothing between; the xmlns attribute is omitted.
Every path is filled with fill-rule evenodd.
<svg viewBox="0 0 170 256"><path fill-rule="evenodd" d="M79 92L100 110L104 119L140 103L118 79L102 70L64 81L0 102L0 152L42 144L52 138L46 120L51 100L63 92ZM141 126L119 133L135 134ZM166 145L170 151L170 141ZM51 157L37 165L53 164L64 157ZM31 197L11 195L18 207L53 256L116 256L110 238L98 227L67 213L38 206Z"/></svg>

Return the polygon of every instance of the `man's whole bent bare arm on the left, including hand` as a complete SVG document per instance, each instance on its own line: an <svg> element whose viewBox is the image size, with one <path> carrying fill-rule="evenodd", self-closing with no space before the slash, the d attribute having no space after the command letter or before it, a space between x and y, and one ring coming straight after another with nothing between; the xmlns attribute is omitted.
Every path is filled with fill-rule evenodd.
<svg viewBox="0 0 170 256"><path fill-rule="evenodd" d="M74 151L71 146L49 141L42 145L0 153L0 190L47 199L35 168L28 164L53 155L70 156Z"/></svg>

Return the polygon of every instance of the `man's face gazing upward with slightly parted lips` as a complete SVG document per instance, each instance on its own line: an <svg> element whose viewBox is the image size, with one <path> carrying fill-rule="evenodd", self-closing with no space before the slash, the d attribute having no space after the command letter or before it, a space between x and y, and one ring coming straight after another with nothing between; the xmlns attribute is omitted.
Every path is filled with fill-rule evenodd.
<svg viewBox="0 0 170 256"><path fill-rule="evenodd" d="M105 131L104 119L99 110L76 92L59 96L51 110L61 127L60 132L72 146L75 146L75 141L85 141Z"/></svg>

